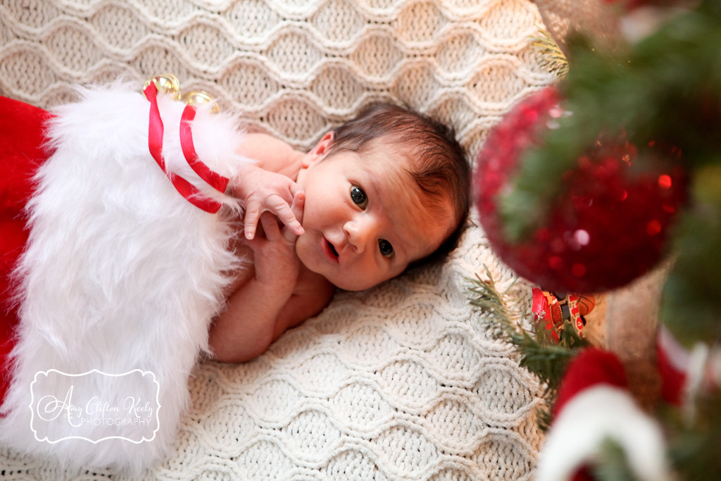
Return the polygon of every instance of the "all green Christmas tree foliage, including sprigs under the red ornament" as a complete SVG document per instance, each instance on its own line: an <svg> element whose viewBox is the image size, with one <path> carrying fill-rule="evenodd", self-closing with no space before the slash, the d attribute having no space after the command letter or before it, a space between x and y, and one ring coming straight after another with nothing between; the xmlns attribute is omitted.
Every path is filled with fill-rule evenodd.
<svg viewBox="0 0 721 481"><path fill-rule="evenodd" d="M663 294L661 319L687 346L721 340L721 0L703 0L636 45L604 50L584 37L567 39L567 75L558 88L572 115L557 119L544 144L520 159L516 177L500 199L508 239L522 240L547 220L565 172L601 135L624 133L632 144L662 141L681 149L690 179L689 203L672 234L675 261ZM554 71L552 46L539 40ZM641 156L640 156L641 158ZM640 169L650 168L640 163ZM554 344L547 332L529 332L512 321L503 295L488 280L472 279L470 301L518 350L521 366L547 386L547 411L568 361L585 345L572 326ZM677 408L658 412L679 479L721 479L721 390L694 403L696 416ZM593 475L634 480L620 446L604 445Z"/></svg>

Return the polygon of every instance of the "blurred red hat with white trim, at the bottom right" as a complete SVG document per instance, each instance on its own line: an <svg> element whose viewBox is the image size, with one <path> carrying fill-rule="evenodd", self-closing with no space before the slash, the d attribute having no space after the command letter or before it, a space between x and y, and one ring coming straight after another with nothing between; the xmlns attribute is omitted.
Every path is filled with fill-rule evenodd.
<svg viewBox="0 0 721 481"><path fill-rule="evenodd" d="M638 480L669 480L658 423L627 391L624 366L606 350L588 348L568 366L554 406L554 421L541 449L537 481L590 480L604 441L627 454Z"/></svg>

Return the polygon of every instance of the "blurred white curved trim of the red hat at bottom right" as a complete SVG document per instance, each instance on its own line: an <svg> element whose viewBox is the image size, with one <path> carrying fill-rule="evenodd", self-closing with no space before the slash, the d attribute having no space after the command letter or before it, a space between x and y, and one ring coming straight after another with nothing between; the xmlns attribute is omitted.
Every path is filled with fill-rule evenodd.
<svg viewBox="0 0 721 481"><path fill-rule="evenodd" d="M541 449L536 481L570 480L583 464L596 459L606 438L621 444L639 480L671 480L658 423L628 392L599 385L576 395L554 420Z"/></svg>

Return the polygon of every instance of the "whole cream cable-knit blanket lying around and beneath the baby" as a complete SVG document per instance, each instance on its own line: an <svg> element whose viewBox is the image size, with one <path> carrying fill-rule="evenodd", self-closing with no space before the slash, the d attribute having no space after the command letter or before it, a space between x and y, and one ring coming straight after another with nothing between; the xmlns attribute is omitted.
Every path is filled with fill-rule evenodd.
<svg viewBox="0 0 721 481"><path fill-rule="evenodd" d="M474 159L515 102L552 81L525 0L58 0L0 4L0 94L50 107L72 84L163 72L249 128L309 149L371 100L449 123ZM200 363L167 480L528 480L541 388L466 299L489 268L519 322L531 288L469 222L442 265L337 294L257 360ZM0 479L61 472L0 450Z"/></svg>

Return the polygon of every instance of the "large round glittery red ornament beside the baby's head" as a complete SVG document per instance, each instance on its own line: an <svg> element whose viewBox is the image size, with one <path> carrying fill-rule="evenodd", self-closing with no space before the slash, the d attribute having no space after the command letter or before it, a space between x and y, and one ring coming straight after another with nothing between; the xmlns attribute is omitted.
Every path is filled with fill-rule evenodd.
<svg viewBox="0 0 721 481"><path fill-rule="evenodd" d="M541 146L549 123L562 115L557 91L547 87L492 129L475 175L480 223L497 255L546 290L590 293L623 286L665 252L668 228L685 199L683 170L666 162L679 153L665 149L661 155L651 143L639 154L622 135L599 136L573 169L551 180L562 183L562 193L547 219L514 244L505 236L500 196L510 192L524 152Z"/></svg>

